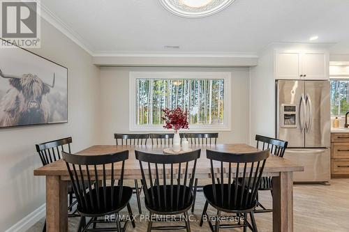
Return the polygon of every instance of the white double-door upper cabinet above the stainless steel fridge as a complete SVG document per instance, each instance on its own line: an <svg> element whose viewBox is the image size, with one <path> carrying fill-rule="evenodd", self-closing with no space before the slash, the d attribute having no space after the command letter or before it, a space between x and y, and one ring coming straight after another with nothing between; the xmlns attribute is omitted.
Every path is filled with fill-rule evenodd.
<svg viewBox="0 0 349 232"><path fill-rule="evenodd" d="M275 79L329 79L329 54L276 50Z"/></svg>

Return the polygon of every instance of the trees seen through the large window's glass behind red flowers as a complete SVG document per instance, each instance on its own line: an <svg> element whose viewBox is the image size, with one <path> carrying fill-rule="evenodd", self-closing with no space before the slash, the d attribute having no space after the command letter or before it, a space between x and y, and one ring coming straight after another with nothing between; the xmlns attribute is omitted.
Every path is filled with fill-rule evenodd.
<svg viewBox="0 0 349 232"><path fill-rule="evenodd" d="M223 79L136 79L138 125L163 124L162 109L181 107L190 124L224 123Z"/></svg>

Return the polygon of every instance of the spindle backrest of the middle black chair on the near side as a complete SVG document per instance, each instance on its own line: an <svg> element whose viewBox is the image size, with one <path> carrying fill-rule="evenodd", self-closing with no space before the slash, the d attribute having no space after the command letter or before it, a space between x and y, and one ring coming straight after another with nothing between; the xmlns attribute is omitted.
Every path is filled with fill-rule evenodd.
<svg viewBox="0 0 349 232"><path fill-rule="evenodd" d="M135 157L140 162L143 191L147 202L156 208L172 209L188 204L184 199L187 201L191 199L188 196L193 193L196 162L200 158L200 153L201 150L193 150L180 155L159 155L135 150ZM184 187L184 192L180 195L181 186L187 186L188 191ZM167 206L168 202L170 206Z"/></svg>

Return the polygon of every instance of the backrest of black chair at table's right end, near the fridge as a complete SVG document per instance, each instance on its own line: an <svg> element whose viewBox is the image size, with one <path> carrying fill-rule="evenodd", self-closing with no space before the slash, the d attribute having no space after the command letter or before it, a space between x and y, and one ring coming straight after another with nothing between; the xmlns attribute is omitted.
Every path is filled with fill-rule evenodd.
<svg viewBox="0 0 349 232"><path fill-rule="evenodd" d="M285 150L288 146L287 141L283 141L280 139L273 139L269 137L265 137L259 134L255 135L255 141L257 141L257 148L260 150L270 149L270 153L273 155L277 155L279 157L283 157L285 154Z"/></svg>

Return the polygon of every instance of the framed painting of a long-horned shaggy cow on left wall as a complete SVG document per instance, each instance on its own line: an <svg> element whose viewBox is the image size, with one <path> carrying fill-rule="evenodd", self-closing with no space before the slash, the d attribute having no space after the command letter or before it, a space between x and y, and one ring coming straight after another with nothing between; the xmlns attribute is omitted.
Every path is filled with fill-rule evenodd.
<svg viewBox="0 0 349 232"><path fill-rule="evenodd" d="M68 122L68 69L21 48L0 51L0 128Z"/></svg>

